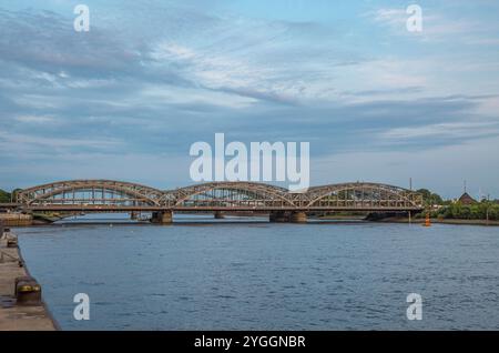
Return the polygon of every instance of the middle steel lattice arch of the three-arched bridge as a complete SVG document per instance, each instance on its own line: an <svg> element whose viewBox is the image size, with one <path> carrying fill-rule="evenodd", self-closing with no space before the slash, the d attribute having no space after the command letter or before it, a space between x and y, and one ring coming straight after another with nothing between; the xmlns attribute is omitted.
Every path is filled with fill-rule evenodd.
<svg viewBox="0 0 499 353"><path fill-rule="evenodd" d="M211 182L177 189L169 195L173 208L295 206L287 189L254 182Z"/></svg>

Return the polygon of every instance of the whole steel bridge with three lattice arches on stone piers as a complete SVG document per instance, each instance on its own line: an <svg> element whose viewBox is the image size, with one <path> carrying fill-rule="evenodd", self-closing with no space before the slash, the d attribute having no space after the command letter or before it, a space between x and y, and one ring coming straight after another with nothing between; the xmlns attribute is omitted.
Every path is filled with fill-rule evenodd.
<svg viewBox="0 0 499 353"><path fill-rule="evenodd" d="M304 222L310 212L389 213L424 209L421 194L380 183L339 183L293 193L254 182L211 182L162 191L113 180L37 185L17 192L16 202L3 206L29 213L151 212L156 223L171 223L173 212L265 212L271 221Z"/></svg>

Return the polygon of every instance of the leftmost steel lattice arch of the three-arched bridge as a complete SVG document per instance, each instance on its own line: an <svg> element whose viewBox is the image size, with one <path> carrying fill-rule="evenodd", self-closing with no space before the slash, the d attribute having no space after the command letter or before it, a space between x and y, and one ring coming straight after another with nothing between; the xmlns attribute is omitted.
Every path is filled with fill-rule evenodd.
<svg viewBox="0 0 499 353"><path fill-rule="evenodd" d="M67 195L71 195L67 198ZM133 204L157 206L163 192L142 184L114 180L72 180L24 189L21 204Z"/></svg>

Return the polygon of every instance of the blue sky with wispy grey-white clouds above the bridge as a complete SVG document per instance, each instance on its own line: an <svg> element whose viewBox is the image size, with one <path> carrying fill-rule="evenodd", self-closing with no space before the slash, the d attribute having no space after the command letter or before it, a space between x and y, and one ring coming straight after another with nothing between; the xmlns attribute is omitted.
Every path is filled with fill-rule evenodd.
<svg viewBox="0 0 499 353"><path fill-rule="evenodd" d="M312 184L499 198L499 2L0 0L0 188L192 183L192 143L310 142ZM90 8L90 31L73 9Z"/></svg>

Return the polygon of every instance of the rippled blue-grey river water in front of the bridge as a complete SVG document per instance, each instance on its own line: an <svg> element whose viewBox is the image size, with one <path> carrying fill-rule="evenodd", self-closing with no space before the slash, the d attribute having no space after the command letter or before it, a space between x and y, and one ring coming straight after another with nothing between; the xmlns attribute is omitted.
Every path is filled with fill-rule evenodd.
<svg viewBox="0 0 499 353"><path fill-rule="evenodd" d="M499 329L498 228L192 221L17 232L65 330Z"/></svg>

